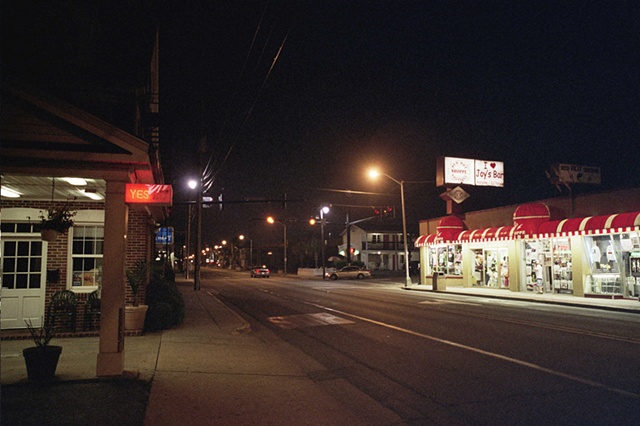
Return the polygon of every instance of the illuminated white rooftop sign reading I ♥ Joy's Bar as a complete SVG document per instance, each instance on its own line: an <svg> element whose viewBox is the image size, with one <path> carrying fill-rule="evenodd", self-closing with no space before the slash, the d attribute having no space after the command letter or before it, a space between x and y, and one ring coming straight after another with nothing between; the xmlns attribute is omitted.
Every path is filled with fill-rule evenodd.
<svg viewBox="0 0 640 426"><path fill-rule="evenodd" d="M436 165L436 184L504 186L502 161L474 160L469 158L440 157Z"/></svg>

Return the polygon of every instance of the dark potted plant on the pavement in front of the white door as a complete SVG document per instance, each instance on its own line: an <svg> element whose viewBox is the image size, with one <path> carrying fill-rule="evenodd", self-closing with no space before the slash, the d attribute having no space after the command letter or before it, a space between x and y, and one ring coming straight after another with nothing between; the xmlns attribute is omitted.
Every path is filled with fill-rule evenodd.
<svg viewBox="0 0 640 426"><path fill-rule="evenodd" d="M26 321L31 338L36 346L25 348L22 351L27 365L27 377L32 382L46 382L53 380L58 367L58 360L62 352L62 346L49 345L53 337L54 327L51 322L44 323L36 328L31 320Z"/></svg>

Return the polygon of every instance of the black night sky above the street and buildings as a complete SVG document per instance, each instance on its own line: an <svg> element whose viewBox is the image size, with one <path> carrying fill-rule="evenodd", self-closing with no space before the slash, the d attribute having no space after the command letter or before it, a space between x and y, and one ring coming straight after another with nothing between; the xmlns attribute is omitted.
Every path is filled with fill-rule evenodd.
<svg viewBox="0 0 640 426"><path fill-rule="evenodd" d="M29 21L44 6L27 3L15 15ZM47 6L38 22L28 22L29 45L38 28L49 32L45 46L56 28L73 38L66 21L74 4ZM640 184L635 0L78 4L91 17L82 19L82 31L113 28L106 33L111 44L85 46L93 54L141 49L148 38L128 36L160 24L161 154L177 203L190 197L183 188L198 171L199 147L215 177L214 198L287 193L296 200L286 210L280 203L206 210L210 244L238 233L277 238L281 230L264 229L266 215L306 219L324 203L334 204L337 222L347 211L351 218L371 214L359 206L393 204L399 211L398 185L369 181L370 165L416 182L405 188L416 230L420 219L445 214L443 189L434 182L439 156L504 162L505 187L467 188L468 211L566 194L545 176L553 163L601 167L602 185L575 186L575 193ZM29 57L3 32L8 48ZM74 66L98 68L91 55L83 58ZM184 213L184 205L174 207L178 230Z"/></svg>

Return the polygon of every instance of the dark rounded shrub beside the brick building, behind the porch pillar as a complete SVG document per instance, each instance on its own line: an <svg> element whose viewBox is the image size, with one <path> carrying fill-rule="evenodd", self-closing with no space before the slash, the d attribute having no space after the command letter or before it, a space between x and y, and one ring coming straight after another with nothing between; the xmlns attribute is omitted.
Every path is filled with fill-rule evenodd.
<svg viewBox="0 0 640 426"><path fill-rule="evenodd" d="M167 330L184 320L184 300L176 285L175 273L163 262L155 262L151 268L151 281L147 289L149 305L145 331Z"/></svg>

